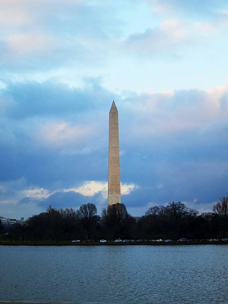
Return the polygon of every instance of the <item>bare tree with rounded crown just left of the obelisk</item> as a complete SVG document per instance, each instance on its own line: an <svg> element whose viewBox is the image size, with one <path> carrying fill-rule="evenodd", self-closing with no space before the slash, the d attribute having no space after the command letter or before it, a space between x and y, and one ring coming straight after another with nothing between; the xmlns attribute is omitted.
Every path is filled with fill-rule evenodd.
<svg viewBox="0 0 228 304"><path fill-rule="evenodd" d="M95 223L95 215L97 214L97 208L95 204L84 204L80 206L79 210L76 211L76 214L77 218L82 222L87 241L89 239L91 225Z"/></svg>

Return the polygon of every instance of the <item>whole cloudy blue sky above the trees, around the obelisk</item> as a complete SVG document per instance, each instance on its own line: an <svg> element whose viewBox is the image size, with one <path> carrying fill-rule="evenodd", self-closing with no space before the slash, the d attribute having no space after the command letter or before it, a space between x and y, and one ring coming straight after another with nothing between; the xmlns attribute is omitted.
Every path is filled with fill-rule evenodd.
<svg viewBox="0 0 228 304"><path fill-rule="evenodd" d="M108 112L122 202L140 216L228 195L226 0L2 0L0 215L107 205Z"/></svg>

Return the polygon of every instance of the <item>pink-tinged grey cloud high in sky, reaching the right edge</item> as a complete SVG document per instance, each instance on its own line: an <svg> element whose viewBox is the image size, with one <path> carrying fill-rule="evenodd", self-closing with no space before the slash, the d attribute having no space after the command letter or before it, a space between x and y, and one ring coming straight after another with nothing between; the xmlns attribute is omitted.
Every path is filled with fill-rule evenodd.
<svg viewBox="0 0 228 304"><path fill-rule="evenodd" d="M156 27L149 27L143 32L134 33L125 41L125 48L131 54L153 58L168 56L172 59L183 58L193 46L205 47L210 39L226 32L228 21L217 18L211 21L168 18ZM143 47L142 47L143 46Z"/></svg>

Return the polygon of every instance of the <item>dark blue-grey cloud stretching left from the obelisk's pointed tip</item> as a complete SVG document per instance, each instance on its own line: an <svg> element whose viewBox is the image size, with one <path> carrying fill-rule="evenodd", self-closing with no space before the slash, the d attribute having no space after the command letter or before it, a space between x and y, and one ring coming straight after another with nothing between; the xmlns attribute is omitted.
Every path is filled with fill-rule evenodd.
<svg viewBox="0 0 228 304"><path fill-rule="evenodd" d="M108 109L108 100L113 94L103 89L96 80L88 79L86 84L84 89L69 89L52 82L9 84L0 95L6 100L5 116L25 120L34 116L77 115L101 106Z"/></svg>

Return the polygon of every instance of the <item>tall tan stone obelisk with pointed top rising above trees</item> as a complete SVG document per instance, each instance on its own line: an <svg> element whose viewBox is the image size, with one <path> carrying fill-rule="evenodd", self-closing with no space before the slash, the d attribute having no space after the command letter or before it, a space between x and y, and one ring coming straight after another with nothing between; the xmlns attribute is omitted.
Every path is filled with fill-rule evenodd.
<svg viewBox="0 0 228 304"><path fill-rule="evenodd" d="M109 111L108 205L121 203L118 110L113 100Z"/></svg>

